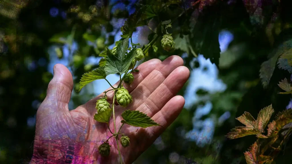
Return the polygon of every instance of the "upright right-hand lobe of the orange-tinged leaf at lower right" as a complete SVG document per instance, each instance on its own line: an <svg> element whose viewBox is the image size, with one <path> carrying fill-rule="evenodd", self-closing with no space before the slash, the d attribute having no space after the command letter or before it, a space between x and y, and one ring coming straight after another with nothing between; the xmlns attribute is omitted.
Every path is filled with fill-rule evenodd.
<svg viewBox="0 0 292 164"><path fill-rule="evenodd" d="M260 110L258 114L258 118L256 120L258 124L257 129L260 132L264 132L264 129L269 123L270 118L273 113L274 113L274 109L272 108L272 104Z"/></svg>

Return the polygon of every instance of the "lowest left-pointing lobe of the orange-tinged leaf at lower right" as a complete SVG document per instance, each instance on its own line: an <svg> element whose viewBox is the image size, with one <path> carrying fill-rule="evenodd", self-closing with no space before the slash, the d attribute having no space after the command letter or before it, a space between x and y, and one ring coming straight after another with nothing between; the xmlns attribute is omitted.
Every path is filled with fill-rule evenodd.
<svg viewBox="0 0 292 164"><path fill-rule="evenodd" d="M255 135L258 134L259 131L254 129L254 128L247 128L244 126L237 126L235 128L233 128L227 135L226 137L228 137L229 139L236 139L236 138L240 138L240 137L244 137L247 135Z"/></svg>

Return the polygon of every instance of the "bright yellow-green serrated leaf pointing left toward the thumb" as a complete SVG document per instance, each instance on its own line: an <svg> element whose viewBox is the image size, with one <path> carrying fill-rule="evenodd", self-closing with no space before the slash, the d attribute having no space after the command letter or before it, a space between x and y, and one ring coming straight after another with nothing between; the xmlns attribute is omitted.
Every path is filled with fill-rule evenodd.
<svg viewBox="0 0 292 164"><path fill-rule="evenodd" d="M82 75L81 80L79 82L79 91L88 83L98 80L104 79L106 77L105 71L101 68L93 70L91 72L85 73Z"/></svg>

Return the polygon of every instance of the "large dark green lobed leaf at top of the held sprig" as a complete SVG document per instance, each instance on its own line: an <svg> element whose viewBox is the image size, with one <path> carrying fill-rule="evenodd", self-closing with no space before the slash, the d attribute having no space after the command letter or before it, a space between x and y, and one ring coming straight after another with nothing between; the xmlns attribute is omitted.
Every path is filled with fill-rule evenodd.
<svg viewBox="0 0 292 164"><path fill-rule="evenodd" d="M116 55L113 55L109 50L107 51L106 65L104 67L107 75L125 73L131 65L132 60L137 56L135 47L126 55L128 39L125 39L117 46Z"/></svg>

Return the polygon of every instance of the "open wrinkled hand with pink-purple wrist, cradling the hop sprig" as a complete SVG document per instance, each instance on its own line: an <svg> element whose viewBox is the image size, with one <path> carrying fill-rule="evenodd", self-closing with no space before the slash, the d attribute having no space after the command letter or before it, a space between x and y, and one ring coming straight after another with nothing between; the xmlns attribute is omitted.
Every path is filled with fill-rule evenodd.
<svg viewBox="0 0 292 164"><path fill-rule="evenodd" d="M163 62L152 59L142 63L137 69L140 71L133 73L135 78L133 83L131 85L123 83L133 97L133 102L126 109L139 110L162 126L137 128L125 124L121 128L121 133L131 139L131 144L126 148L119 143L122 160L126 164L133 163L178 117L185 100L176 94L190 74L183 66L183 59L178 56L168 57ZM114 87L118 84L119 82ZM48 85L47 96L36 114L34 156L30 163L50 163L48 161L60 163L59 161L66 155L68 158L68 154L74 156L75 163L120 163L114 137L109 139L111 145L109 157L101 157L98 153L98 146L112 135L106 123L99 123L93 119L97 112L96 100L103 97L103 94L69 111L68 103L72 88L72 74L64 65L56 64L54 77ZM108 92L107 96L109 103L112 103L113 92ZM117 103L115 105L117 130L121 126L120 115L126 109ZM112 118L109 127L114 132ZM81 158L83 160L79 160Z"/></svg>

